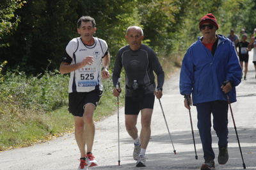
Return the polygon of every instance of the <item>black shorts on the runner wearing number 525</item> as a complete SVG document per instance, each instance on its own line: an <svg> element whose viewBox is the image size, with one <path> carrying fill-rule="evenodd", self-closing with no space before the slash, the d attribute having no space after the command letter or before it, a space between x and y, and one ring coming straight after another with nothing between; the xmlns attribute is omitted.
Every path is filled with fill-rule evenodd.
<svg viewBox="0 0 256 170"><path fill-rule="evenodd" d="M94 104L97 107L97 104L102 96L102 91L99 89L94 89L90 92L72 92L68 94L68 111L74 116L83 117L84 114L84 105Z"/></svg>

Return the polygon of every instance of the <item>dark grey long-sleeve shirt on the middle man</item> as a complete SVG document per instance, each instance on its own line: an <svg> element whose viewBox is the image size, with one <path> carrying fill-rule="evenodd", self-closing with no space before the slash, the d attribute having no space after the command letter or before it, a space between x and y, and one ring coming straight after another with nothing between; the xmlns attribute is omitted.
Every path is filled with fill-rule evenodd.
<svg viewBox="0 0 256 170"><path fill-rule="evenodd" d="M157 75L157 88L163 88L164 72L159 63L154 50L147 45L141 45L138 50L131 50L129 45L118 50L115 67L113 70L113 85L116 86L120 72L124 67L125 70L125 94L131 96L132 84L136 80L139 86L145 87L145 93L154 93L156 83L154 82Z"/></svg>

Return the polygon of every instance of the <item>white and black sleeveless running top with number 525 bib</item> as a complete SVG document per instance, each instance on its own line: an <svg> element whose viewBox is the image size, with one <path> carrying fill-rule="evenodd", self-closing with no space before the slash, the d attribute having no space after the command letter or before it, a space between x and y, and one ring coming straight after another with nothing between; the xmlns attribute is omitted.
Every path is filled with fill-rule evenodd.
<svg viewBox="0 0 256 170"><path fill-rule="evenodd" d="M73 38L66 47L68 56L72 58L70 65L80 63L86 56L93 56L92 65L86 65L70 73L68 93L93 91L95 86L102 90L102 58L108 50L108 45L100 38L94 40L93 45L87 46L81 38Z"/></svg>

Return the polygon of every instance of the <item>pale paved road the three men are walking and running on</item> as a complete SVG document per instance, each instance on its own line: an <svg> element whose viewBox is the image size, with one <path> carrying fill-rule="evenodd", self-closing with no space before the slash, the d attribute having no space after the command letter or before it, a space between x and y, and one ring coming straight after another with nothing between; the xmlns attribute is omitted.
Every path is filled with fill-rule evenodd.
<svg viewBox="0 0 256 170"><path fill-rule="evenodd" d="M252 52L250 56L252 58ZM238 102L232 104L232 110L246 169L256 169L256 79L252 61L249 62L248 78L237 88ZM204 160L196 128L196 109L192 107L191 114L198 160L195 160L188 110L184 108L183 98L179 95L179 71L164 84L164 96L161 102L177 151L176 155L173 153L161 107L156 100L152 117L152 137L147 149L147 167L135 167L136 162L132 160L133 144L125 131L124 108L122 108L120 109L121 166L118 166L117 116L114 114L96 124L93 153L99 166L91 169L199 169ZM228 164L224 166L218 165L216 161L216 169L243 169L230 114L228 119L230 158ZM140 128L140 125L138 127ZM214 131L212 135L214 151L218 155L217 137ZM78 158L79 150L74 134L69 134L47 143L0 153L0 169L76 169L79 164Z"/></svg>

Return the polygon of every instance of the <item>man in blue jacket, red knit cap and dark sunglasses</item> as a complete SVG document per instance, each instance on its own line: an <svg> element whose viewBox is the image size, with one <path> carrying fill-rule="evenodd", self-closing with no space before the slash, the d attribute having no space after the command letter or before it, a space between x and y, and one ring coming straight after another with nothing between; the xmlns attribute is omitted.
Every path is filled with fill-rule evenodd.
<svg viewBox="0 0 256 170"><path fill-rule="evenodd" d="M227 163L227 95L230 102L236 102L236 86L241 82L242 71L234 43L223 35L217 35L218 27L212 13L200 19L199 28L203 36L189 47L180 71L180 94L184 95L184 105L190 109L192 93L197 110L197 126L205 159L201 169L214 168L211 114L219 139L218 163Z"/></svg>

